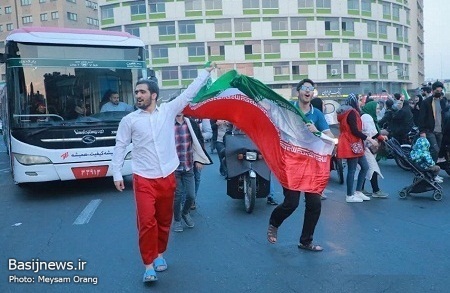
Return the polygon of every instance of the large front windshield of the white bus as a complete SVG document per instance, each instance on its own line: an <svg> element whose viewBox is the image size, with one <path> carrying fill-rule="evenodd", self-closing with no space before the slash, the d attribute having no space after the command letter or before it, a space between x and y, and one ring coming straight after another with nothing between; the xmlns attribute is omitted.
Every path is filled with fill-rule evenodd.
<svg viewBox="0 0 450 293"><path fill-rule="evenodd" d="M146 67L142 47L9 42L6 49L13 129L118 123L134 110L134 84ZM126 105L101 111L111 93Z"/></svg>

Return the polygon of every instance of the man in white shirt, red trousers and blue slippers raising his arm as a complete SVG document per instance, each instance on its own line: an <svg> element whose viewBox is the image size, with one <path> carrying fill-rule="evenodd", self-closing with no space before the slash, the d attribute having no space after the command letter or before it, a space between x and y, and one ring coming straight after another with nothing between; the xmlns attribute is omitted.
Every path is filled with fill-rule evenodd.
<svg viewBox="0 0 450 293"><path fill-rule="evenodd" d="M167 269L167 248L176 187L174 171L180 164L175 147L174 120L192 101L210 72L213 62L177 98L157 106L158 84L142 79L136 83L138 110L120 121L112 159L114 185L123 191L122 165L127 146L133 142L131 165L136 201L139 249L145 265L144 282L157 280L156 272Z"/></svg>

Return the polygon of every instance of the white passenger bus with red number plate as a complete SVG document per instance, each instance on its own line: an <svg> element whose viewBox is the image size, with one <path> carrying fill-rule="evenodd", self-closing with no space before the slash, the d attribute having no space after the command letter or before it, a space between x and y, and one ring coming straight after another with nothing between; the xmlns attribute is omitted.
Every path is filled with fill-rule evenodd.
<svg viewBox="0 0 450 293"><path fill-rule="evenodd" d="M12 31L0 60L3 135L15 183L112 176L126 111L100 112L107 92L134 107L147 77L144 43L128 33L33 28ZM131 147L124 175L131 174Z"/></svg>

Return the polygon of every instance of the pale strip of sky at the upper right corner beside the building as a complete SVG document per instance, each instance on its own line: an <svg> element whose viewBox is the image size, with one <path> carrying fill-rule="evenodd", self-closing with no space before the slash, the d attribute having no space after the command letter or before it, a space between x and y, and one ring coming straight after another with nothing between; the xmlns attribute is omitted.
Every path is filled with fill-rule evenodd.
<svg viewBox="0 0 450 293"><path fill-rule="evenodd" d="M450 79L450 0L423 0L425 79Z"/></svg>

